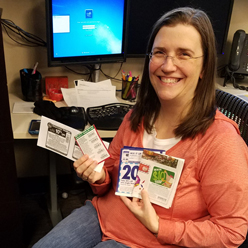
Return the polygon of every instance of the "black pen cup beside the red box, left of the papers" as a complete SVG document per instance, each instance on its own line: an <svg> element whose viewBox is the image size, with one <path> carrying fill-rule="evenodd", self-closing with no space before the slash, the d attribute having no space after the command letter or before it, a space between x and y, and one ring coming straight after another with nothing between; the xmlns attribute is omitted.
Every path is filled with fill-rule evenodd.
<svg viewBox="0 0 248 248"><path fill-rule="evenodd" d="M33 69L20 70L23 100L27 102L42 100L41 74L32 72Z"/></svg>

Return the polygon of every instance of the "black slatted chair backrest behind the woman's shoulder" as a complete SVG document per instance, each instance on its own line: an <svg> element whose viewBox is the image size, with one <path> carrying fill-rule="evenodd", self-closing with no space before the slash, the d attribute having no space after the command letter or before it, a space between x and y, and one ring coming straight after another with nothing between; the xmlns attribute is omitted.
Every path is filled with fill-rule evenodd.
<svg viewBox="0 0 248 248"><path fill-rule="evenodd" d="M216 105L224 115L238 124L241 136L248 145L248 102L217 89Z"/></svg>

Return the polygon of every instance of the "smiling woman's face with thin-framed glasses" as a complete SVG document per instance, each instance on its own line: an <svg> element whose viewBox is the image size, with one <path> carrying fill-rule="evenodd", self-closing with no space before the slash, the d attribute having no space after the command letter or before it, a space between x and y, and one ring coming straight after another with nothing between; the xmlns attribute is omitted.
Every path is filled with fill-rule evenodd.
<svg viewBox="0 0 248 248"><path fill-rule="evenodd" d="M191 25L164 26L155 37L152 52L150 81L161 104L189 103L202 76L203 50L198 31ZM156 55L161 57L156 59Z"/></svg>

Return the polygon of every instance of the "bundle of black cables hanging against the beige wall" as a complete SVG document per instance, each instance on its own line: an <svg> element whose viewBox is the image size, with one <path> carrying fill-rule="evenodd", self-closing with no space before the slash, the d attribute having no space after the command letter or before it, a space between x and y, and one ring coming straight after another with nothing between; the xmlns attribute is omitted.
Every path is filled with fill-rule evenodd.
<svg viewBox="0 0 248 248"><path fill-rule="evenodd" d="M46 47L46 42L44 40L34 34L24 31L23 29L18 27L13 21L8 19L1 19L1 24L9 38L14 42L18 43L19 45L30 47ZM12 35L10 35L10 32L12 32ZM19 36L19 39L21 41L18 41L16 38L14 38L13 34L17 35L17 37Z"/></svg>

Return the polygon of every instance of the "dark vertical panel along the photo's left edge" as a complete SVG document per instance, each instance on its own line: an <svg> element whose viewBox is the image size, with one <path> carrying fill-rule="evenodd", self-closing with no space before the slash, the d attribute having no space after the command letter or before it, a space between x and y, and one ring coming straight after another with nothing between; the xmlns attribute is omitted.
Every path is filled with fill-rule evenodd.
<svg viewBox="0 0 248 248"><path fill-rule="evenodd" d="M2 10L0 9L0 16ZM0 246L21 246L20 202L0 26Z"/></svg>

